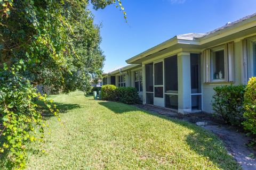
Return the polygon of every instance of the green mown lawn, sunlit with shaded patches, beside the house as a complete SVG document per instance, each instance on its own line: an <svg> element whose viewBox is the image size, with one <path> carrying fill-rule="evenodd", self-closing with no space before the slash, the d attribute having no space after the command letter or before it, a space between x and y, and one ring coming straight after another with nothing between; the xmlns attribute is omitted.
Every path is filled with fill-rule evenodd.
<svg viewBox="0 0 256 170"><path fill-rule="evenodd" d="M78 91L51 98L65 126L49 117L45 143L28 146L28 169L239 169L215 135L193 124Z"/></svg>

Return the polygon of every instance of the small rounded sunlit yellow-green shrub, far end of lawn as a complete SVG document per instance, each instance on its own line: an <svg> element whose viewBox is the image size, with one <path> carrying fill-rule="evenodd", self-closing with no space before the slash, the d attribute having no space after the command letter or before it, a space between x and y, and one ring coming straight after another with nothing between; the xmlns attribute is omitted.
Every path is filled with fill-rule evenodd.
<svg viewBox="0 0 256 170"><path fill-rule="evenodd" d="M101 97L103 100L116 101L116 86L114 85L103 85L101 87Z"/></svg>

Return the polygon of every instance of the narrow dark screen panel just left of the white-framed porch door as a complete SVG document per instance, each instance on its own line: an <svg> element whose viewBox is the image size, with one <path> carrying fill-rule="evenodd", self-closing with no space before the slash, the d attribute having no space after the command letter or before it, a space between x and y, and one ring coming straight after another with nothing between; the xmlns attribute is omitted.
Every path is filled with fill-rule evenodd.
<svg viewBox="0 0 256 170"><path fill-rule="evenodd" d="M154 104L154 70L153 63L145 65L146 71L146 104Z"/></svg>

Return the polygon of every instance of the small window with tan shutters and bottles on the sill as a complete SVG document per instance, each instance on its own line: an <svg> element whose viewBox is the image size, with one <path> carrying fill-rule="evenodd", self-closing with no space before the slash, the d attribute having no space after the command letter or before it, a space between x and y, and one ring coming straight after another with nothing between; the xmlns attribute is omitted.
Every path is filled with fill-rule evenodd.
<svg viewBox="0 0 256 170"><path fill-rule="evenodd" d="M234 81L233 42L204 50L202 58L204 83Z"/></svg>

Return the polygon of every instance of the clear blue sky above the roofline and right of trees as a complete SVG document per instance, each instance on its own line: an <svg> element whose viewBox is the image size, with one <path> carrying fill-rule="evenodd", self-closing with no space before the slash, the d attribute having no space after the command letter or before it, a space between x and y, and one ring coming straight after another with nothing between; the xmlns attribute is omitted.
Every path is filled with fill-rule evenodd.
<svg viewBox="0 0 256 170"><path fill-rule="evenodd" d="M175 35L204 33L256 12L255 0L122 0L127 21L114 5L93 11L102 23L103 71Z"/></svg>

